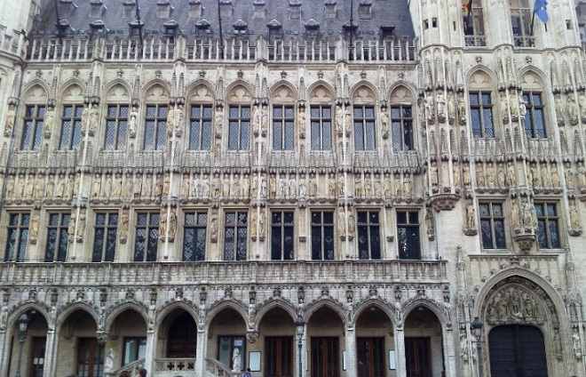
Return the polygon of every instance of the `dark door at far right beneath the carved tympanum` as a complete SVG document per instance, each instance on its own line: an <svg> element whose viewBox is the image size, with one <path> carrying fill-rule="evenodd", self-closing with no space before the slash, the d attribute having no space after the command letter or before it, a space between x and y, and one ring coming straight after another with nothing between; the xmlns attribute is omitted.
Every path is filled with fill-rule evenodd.
<svg viewBox="0 0 586 377"><path fill-rule="evenodd" d="M531 325L501 325L488 333L492 377L547 377L543 333Z"/></svg>

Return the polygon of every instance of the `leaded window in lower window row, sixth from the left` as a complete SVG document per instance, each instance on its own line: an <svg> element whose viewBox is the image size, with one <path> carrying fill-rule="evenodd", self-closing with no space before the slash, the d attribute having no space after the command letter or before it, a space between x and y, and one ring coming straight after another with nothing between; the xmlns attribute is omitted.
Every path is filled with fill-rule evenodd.
<svg viewBox="0 0 586 377"><path fill-rule="evenodd" d="M248 213L226 212L224 223L224 260L246 261Z"/></svg>

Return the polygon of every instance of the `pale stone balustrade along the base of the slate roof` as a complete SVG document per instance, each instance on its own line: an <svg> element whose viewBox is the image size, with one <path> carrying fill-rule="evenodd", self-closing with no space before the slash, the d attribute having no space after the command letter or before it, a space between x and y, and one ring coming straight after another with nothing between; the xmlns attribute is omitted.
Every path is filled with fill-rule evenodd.
<svg viewBox="0 0 586 377"><path fill-rule="evenodd" d="M142 47L138 40L104 38L73 39L33 38L28 43L27 59L30 61L257 61L280 63L288 61L415 61L416 40L392 39L380 41L355 40L348 43L337 41L288 40L267 43L263 37L256 41L226 39L186 39L178 36L146 38Z"/></svg>

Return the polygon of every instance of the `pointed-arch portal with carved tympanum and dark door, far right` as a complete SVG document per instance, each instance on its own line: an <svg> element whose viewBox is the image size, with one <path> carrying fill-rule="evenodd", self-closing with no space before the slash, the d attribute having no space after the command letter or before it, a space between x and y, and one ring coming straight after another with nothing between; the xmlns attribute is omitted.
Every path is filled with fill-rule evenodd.
<svg viewBox="0 0 586 377"><path fill-rule="evenodd" d="M491 376L552 375L548 365L563 357L563 346L558 311L541 286L507 277L491 288L481 313Z"/></svg>

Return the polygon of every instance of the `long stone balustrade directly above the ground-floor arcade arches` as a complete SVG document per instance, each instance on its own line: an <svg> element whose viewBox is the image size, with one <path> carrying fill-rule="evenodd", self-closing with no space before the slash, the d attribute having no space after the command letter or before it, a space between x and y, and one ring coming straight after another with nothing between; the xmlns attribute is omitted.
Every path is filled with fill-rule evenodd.
<svg viewBox="0 0 586 377"><path fill-rule="evenodd" d="M205 261L157 263L0 263L0 282L12 285L178 285L433 282L447 279L447 261Z"/></svg>

